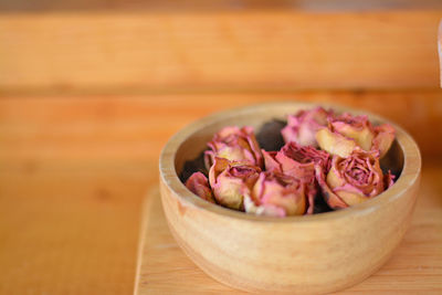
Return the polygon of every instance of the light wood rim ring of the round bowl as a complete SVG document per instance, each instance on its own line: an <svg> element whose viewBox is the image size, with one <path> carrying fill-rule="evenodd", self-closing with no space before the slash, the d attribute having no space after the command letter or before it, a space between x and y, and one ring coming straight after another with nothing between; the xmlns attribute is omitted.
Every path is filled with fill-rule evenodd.
<svg viewBox="0 0 442 295"><path fill-rule="evenodd" d="M337 211L330 211L312 215L295 215L285 218L259 217L236 210L231 210L219 204L210 203L193 194L181 182L175 169L175 155L179 149L180 145L189 136L204 128L203 126L206 126L206 124L223 120L229 117L238 116L240 114L253 113L256 108L283 107L284 105L291 107L297 105L305 108L313 108L316 106L323 106L326 108L330 107L338 112L350 112L351 114L366 114L369 116L370 120L391 124L396 128L396 139L403 152L403 168L400 177L394 182L394 185L390 187L388 190L380 193L376 198L367 200L366 202ZM414 160L410 161L411 158L414 158ZM411 166L410 162L414 162L415 165ZM383 204L392 202L398 198L401 198L403 193L406 193L419 180L419 176L421 173L421 165L422 165L421 162L422 162L421 154L414 139L397 124L387 120L381 116L371 114L370 112L366 112L362 109L350 108L338 104L308 103L308 102L296 101L296 102L261 103L255 105L249 105L245 107L217 112L187 125L186 127L177 131L162 148L159 157L159 171L160 171L160 180L162 181L162 183L167 186L167 188L171 192L173 192L172 196L175 196L175 198L177 198L180 203L196 209L207 210L214 214L224 215L225 218L239 219L250 222L315 222L322 220L327 221L330 219L344 218L345 215L350 217L350 215L368 214L373 210L381 208Z"/></svg>

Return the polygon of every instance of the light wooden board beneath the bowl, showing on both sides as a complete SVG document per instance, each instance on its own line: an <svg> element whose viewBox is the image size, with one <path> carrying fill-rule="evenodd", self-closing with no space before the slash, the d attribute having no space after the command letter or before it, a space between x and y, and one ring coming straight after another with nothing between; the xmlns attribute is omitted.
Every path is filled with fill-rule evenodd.
<svg viewBox="0 0 442 295"><path fill-rule="evenodd" d="M344 294L442 292L442 170L427 166L422 189L410 230L390 261L362 283ZM145 294L243 294L204 274L180 250L161 210L158 191L147 198L150 207L138 273L137 295Z"/></svg>

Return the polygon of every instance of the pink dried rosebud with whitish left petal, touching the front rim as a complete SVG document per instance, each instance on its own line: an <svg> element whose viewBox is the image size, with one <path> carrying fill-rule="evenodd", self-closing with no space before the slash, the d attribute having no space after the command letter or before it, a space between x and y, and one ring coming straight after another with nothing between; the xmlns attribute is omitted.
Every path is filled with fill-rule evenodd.
<svg viewBox="0 0 442 295"><path fill-rule="evenodd" d="M305 183L291 176L261 172L244 207L246 212L259 215L302 215L306 211Z"/></svg>

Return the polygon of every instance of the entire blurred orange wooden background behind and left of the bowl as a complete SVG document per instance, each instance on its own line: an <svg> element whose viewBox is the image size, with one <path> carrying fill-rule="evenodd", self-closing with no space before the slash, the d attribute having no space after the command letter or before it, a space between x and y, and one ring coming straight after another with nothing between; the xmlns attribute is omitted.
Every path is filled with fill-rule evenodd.
<svg viewBox="0 0 442 295"><path fill-rule="evenodd" d="M366 108L439 167L441 17L430 0L1 1L0 293L130 293L159 151L219 109Z"/></svg>

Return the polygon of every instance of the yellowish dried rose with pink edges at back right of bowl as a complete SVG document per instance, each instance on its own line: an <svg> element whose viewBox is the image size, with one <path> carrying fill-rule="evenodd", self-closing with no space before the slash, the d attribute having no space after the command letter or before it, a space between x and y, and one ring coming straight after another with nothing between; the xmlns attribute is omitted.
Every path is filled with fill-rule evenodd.
<svg viewBox="0 0 442 295"><path fill-rule="evenodd" d="M329 116L327 127L316 133L316 140L323 150L343 158L356 148L378 150L382 158L394 140L394 128L388 124L372 127L366 115L344 113L336 117Z"/></svg>

